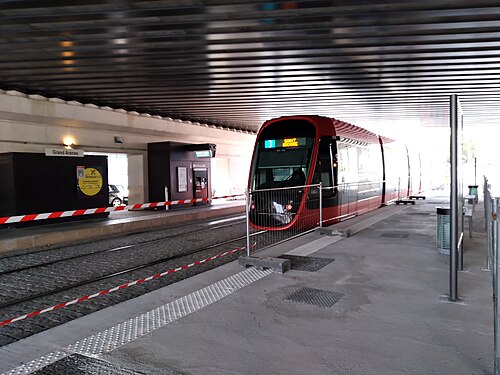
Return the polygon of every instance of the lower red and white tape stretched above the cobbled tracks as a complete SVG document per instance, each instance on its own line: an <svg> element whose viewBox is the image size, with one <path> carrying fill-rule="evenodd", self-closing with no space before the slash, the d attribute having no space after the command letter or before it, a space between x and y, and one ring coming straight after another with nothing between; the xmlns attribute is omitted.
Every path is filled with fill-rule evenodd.
<svg viewBox="0 0 500 375"><path fill-rule="evenodd" d="M172 269L169 269L168 271L157 273L156 275L153 275L153 276L144 277L142 279L139 279L139 280L136 280L136 281L132 281L131 283L128 283L128 284L123 284L123 285L120 285L120 286L116 286L114 288L106 289L106 290L103 290L103 291L101 291L99 293L94 293L94 294L91 294L91 295L88 295L88 296L83 296L83 297L74 299L72 301L63 302L63 303L60 303L60 304L52 306L52 307L47 307L45 309L36 310L36 311L33 311L33 312L29 313L29 314L18 316L17 318L7 319L7 320L4 320L3 322L0 322L0 327L1 326L5 326L5 325L10 324L10 323L13 323L13 322L17 322L19 320L24 320L24 319L27 319L27 318L31 318L32 316L37 316L37 315L40 315L40 314L43 314L43 313L46 313L46 312L49 312L49 311L53 311L53 310L56 310L56 309L60 309L60 308L63 308L63 307L74 305L75 303L78 303L78 302L83 302L83 301L87 301L87 300L92 299L92 298L103 296L103 295L111 293L111 292L116 292L117 290L128 288L129 286L134 286L134 285L137 285L137 284L144 283L146 281L151 281L151 280L154 280L154 279L158 279L160 277L163 277L163 276L166 276L166 275L170 275L172 273L175 273L175 272L178 272L178 271L181 271L181 270L187 270L188 268L191 268L191 267L194 267L194 266L198 266L200 264L209 262L209 261L214 260L214 259L222 258L223 256L226 256L226 255L234 254L237 251L241 251L241 250L244 250L244 249L246 249L246 246L244 246L244 247L238 247L236 249L233 249L233 250L230 250L230 251L225 251L225 252L223 252L221 254L214 255L214 256L212 256L210 258L206 258L206 259L203 259L203 260L197 260L197 261L195 261L193 263L190 263L190 264L187 264L187 265L184 265L184 266L181 266L181 267L172 268Z"/></svg>

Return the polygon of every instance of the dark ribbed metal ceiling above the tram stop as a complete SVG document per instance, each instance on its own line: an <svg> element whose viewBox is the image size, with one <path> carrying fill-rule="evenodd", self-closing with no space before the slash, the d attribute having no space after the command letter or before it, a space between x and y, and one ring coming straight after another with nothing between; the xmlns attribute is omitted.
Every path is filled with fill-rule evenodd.
<svg viewBox="0 0 500 375"><path fill-rule="evenodd" d="M498 0L0 2L0 88L255 131L500 118Z"/></svg>

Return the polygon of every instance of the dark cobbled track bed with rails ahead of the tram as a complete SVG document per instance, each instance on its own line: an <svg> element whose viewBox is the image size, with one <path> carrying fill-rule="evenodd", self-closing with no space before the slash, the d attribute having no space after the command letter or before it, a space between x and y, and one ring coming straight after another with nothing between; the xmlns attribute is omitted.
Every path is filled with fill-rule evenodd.
<svg viewBox="0 0 500 375"><path fill-rule="evenodd" d="M170 228L171 229L171 228ZM192 229L192 227L191 227ZM98 250L88 250L81 254L64 255L70 248L58 248L50 259L43 259L43 252L23 254L40 258L32 260L32 264L24 267L5 267L0 273L0 321L23 314L44 309L90 295L109 287L116 287L143 277L154 275L168 269L181 267L193 261L230 251L246 245L246 225L244 221L234 220L223 225L200 228L193 233L180 230L178 233L165 235L152 234L152 238L139 242L137 238L125 237L130 244L119 243L119 246L103 246ZM210 236L207 232L212 231ZM142 234L141 236L144 236ZM121 242L124 238L120 238ZM200 244L203 244L200 246ZM78 245L80 248L82 245ZM98 242L90 247L100 247ZM51 249L50 251L54 251ZM137 297L149 291L169 285L196 273L216 268L240 256L236 253L209 263L196 269L182 270L169 277L136 285L133 288L105 295L92 301L74 304L64 309L13 322L0 327L0 346L28 337L34 333L52 328L104 307ZM52 257L55 257L52 258ZM21 258L4 257L5 260ZM24 258L26 259L26 258ZM8 262L7 262L8 263Z"/></svg>

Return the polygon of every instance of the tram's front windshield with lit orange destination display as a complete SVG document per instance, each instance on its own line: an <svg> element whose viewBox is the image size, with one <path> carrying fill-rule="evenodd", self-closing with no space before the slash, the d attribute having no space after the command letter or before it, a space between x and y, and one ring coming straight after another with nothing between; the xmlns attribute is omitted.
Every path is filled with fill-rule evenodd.
<svg viewBox="0 0 500 375"><path fill-rule="evenodd" d="M313 138L266 139L258 143L253 189L275 189L306 184Z"/></svg>

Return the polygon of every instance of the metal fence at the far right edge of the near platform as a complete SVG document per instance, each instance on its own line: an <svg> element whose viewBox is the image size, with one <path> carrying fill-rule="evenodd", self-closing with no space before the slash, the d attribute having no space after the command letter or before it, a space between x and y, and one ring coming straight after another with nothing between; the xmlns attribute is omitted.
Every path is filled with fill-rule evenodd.
<svg viewBox="0 0 500 375"><path fill-rule="evenodd" d="M500 228L498 222L498 216L500 214L500 198L493 196L486 177L484 178L483 186L485 229L487 233L485 270L491 270L493 276L493 329L495 349L494 374L500 375L500 316L498 302L498 291L500 289L500 280L498 278L500 266L498 256L498 249L500 248Z"/></svg>

